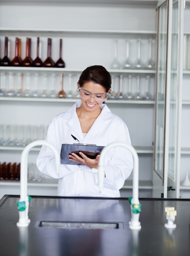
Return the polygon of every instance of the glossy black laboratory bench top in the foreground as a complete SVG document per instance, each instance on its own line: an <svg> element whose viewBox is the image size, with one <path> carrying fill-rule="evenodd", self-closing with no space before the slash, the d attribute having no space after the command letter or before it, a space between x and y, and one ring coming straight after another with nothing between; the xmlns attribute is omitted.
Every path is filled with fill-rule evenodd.
<svg viewBox="0 0 190 256"><path fill-rule="evenodd" d="M140 198L131 230L127 198L31 196L28 227L17 227L20 196L0 200L1 256L190 256L190 200ZM174 207L175 229L166 229Z"/></svg>

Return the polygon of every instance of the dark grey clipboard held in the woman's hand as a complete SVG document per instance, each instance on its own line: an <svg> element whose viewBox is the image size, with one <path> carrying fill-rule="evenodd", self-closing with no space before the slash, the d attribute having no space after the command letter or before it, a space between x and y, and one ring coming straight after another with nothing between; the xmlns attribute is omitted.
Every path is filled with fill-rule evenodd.
<svg viewBox="0 0 190 256"><path fill-rule="evenodd" d="M74 164L74 165L83 165L81 163L76 163L69 160L69 153L73 151L86 151L87 153L101 153L104 146L96 146L95 144L62 144L60 159L61 164Z"/></svg>

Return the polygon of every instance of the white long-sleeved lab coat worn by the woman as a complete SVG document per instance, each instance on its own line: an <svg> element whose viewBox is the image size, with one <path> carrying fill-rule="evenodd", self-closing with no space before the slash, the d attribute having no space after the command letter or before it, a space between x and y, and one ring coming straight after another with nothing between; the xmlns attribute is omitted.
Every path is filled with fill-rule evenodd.
<svg viewBox="0 0 190 256"><path fill-rule="evenodd" d="M71 134L83 144L106 146L113 141L125 141L131 144L126 124L120 117L114 115L106 104L101 105L101 114L84 137L76 114L76 108L79 106L81 106L80 102L75 103L67 112L54 117L49 125L46 140L54 144L58 152L61 151L62 144L76 143ZM60 196L120 197L119 189L133 169L133 157L126 148L116 147L107 152L104 159L106 177L101 195L98 175L85 171L89 169L87 166L61 164L59 173L56 173L54 154L46 146L42 146L36 164L45 175L59 179L58 195Z"/></svg>

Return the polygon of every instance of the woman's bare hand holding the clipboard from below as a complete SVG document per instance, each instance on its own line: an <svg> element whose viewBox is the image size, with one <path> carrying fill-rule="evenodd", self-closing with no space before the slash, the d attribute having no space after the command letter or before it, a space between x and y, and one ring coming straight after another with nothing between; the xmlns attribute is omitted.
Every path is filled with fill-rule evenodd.
<svg viewBox="0 0 190 256"><path fill-rule="evenodd" d="M79 154L83 158L79 157L75 153L71 153L71 154L69 154L69 160L71 160L73 162L84 164L84 165L88 166L89 168L98 168L98 162L100 159L100 155L97 155L96 159L90 159L82 152L79 152Z"/></svg>

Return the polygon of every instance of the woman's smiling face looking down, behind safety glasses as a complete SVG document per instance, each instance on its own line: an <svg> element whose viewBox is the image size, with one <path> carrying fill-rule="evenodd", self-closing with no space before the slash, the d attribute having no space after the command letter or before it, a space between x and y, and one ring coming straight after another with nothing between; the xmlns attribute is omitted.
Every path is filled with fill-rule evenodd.
<svg viewBox="0 0 190 256"><path fill-rule="evenodd" d="M99 100L96 101L96 98L97 98L96 93L105 94L106 92L105 88L98 83L94 83L90 81L90 82L84 83L82 89L89 92L93 92L92 97L90 99L84 99L80 97L80 100L82 102L82 107L87 111L98 110L101 104L103 103L103 101L99 101Z"/></svg>

